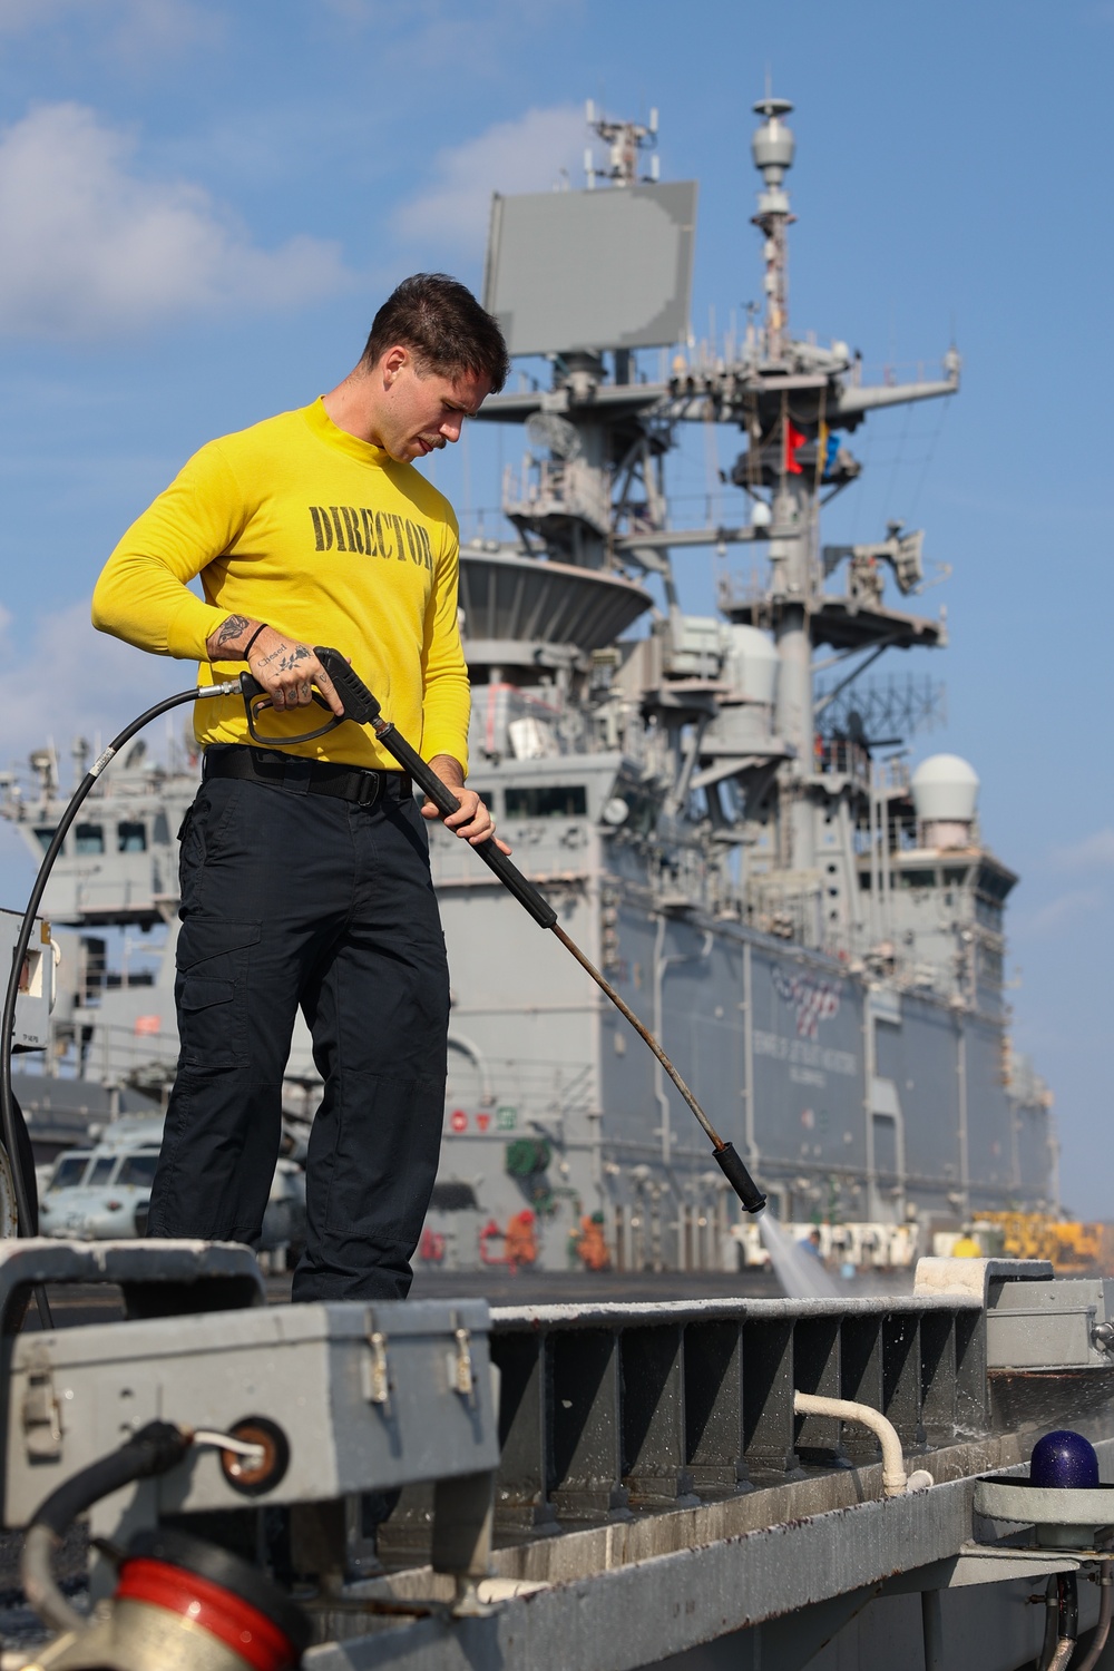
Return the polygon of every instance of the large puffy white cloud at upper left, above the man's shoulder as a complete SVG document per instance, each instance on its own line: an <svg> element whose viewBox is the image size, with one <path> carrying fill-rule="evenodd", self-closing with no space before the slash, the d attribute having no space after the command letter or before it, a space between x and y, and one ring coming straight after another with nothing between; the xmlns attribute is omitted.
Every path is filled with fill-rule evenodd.
<svg viewBox="0 0 1114 1671"><path fill-rule="evenodd" d="M147 180L132 135L77 104L0 135L0 331L90 338L209 307L289 307L347 282L336 244L257 249L205 190Z"/></svg>

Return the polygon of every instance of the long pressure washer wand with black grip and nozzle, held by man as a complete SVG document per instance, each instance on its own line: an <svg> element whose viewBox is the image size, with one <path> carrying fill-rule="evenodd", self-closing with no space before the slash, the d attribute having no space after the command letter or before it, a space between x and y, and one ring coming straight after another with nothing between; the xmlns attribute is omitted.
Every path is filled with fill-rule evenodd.
<svg viewBox="0 0 1114 1671"><path fill-rule="evenodd" d="M446 789L446 785L441 782L436 772L433 772L421 759L421 755L414 749L411 749L406 737L403 737L394 729L391 720L384 720L379 702L371 693L371 690L367 690L362 678L352 672L347 660L339 653L339 650L329 650L317 645L314 647L314 655L326 668L329 678L332 680L332 683L336 685L344 700L344 717L356 720L357 725L371 725L377 742L387 750L387 754L394 755L394 759L406 772L409 772L411 779L418 784L418 787L429 797L429 800L433 800L438 812L443 814L459 812L461 804L453 794L453 790ZM620 998L620 994L615 991L611 983L600 973L600 969L596 969L595 962L591 962L591 959L583 954L580 946L568 937L568 934L558 922L556 911L544 897L544 894L541 894L534 887L534 884L523 876L518 866L513 864L503 852L503 849L496 846L493 837L476 842L473 851L483 859L488 869L494 871L503 886L511 894L514 894L519 906L524 906L526 911L529 911L534 922L539 927L551 929L553 934L556 934L565 949L571 951L573 957L576 957L576 962L581 966L581 969L586 971L586 974L591 976L600 991L611 999L620 1014L626 1016L626 1019L635 1028L638 1036L650 1046L653 1054L658 1058L658 1061L668 1073L670 1079L673 1081L673 1084L681 1093L681 1096L691 1108L693 1115L703 1126L711 1143L711 1153L717 1158L720 1171L735 1190L735 1195L740 1198L748 1213L760 1213L762 1208L767 1205L767 1198L755 1183L755 1180L747 1171L742 1156L735 1150L735 1145L723 1141L723 1138L715 1130L715 1126L705 1115L703 1108L700 1106L693 1093L681 1079L680 1073L676 1071L670 1058L658 1044L653 1033L646 1026L643 1026L635 1011Z"/></svg>

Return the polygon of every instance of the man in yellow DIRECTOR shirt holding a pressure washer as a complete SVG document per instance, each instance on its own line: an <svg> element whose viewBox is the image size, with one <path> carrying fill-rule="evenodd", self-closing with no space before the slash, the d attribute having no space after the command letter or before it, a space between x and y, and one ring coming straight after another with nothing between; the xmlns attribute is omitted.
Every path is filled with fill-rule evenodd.
<svg viewBox="0 0 1114 1671"><path fill-rule="evenodd" d="M399 1298L438 1166L448 973L424 817L369 730L316 742L314 655L332 645L461 802L468 672L456 623L458 528L413 461L456 441L506 379L506 344L444 274L406 279L331 394L204 446L125 533L94 625L202 683L244 662L274 749L239 697L199 702L204 779L180 830L180 1054L149 1233L256 1242L281 1136L296 1011L324 1079L307 1160L294 1298ZM189 590L200 576L204 602Z"/></svg>

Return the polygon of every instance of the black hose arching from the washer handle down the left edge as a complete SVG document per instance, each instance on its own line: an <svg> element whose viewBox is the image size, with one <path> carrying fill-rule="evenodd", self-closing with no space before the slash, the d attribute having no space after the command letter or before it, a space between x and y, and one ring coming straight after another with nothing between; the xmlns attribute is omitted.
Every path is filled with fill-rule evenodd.
<svg viewBox="0 0 1114 1671"><path fill-rule="evenodd" d="M23 973L23 959L32 942L32 934L35 929L35 914L42 904L42 896L47 891L47 882L50 881L50 872L53 862L62 852L62 842L67 837L70 824L77 817L82 802L89 795L90 789L109 765L109 762L120 752L125 742L157 720L160 714L169 714L170 709L180 707L184 702L197 702L204 697L232 695L241 688L241 682L232 680L224 685L197 685L192 690L180 690L177 697L167 697L164 702L155 702L154 709L147 709L140 714L137 720L125 725L119 737L114 737L109 747L104 750L99 760L94 760L92 767L80 780L73 794L70 795L70 804L58 820L58 827L50 839L42 864L38 866L38 876L35 877L35 886L32 887L30 899L27 901L27 911L23 912L23 921L20 924L20 934L15 942L15 951L12 954L12 973L8 974L8 988L3 999L3 1019L0 1021L0 1138L8 1155L8 1165L12 1168L12 1185L15 1188L15 1213L17 1213L17 1233L20 1237L30 1237L35 1233L35 1225L38 1220L38 1190L35 1186L35 1168L27 1165L27 1155L30 1153L30 1143L27 1136L27 1125L23 1115L12 1093L12 1036L15 1033L15 1004L20 991L20 974ZM42 1317L43 1327L50 1327L50 1310L45 1303L45 1295L42 1288L37 1290L38 1315Z"/></svg>

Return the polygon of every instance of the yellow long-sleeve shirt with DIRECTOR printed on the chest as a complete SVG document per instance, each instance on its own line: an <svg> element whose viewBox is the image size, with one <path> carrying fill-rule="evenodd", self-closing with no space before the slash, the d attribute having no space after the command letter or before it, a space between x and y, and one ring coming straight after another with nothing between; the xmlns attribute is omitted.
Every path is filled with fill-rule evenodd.
<svg viewBox="0 0 1114 1671"><path fill-rule="evenodd" d="M468 769L468 670L456 625L458 526L426 478L339 429L321 401L210 441L132 523L94 592L94 627L155 655L197 658L220 683L244 662L209 662L229 617L267 622L352 662L382 712L431 760ZM187 582L200 575L204 602ZM316 705L262 715L281 739L314 730ZM194 709L205 745L249 742L241 697ZM369 730L341 725L294 754L394 767Z"/></svg>

